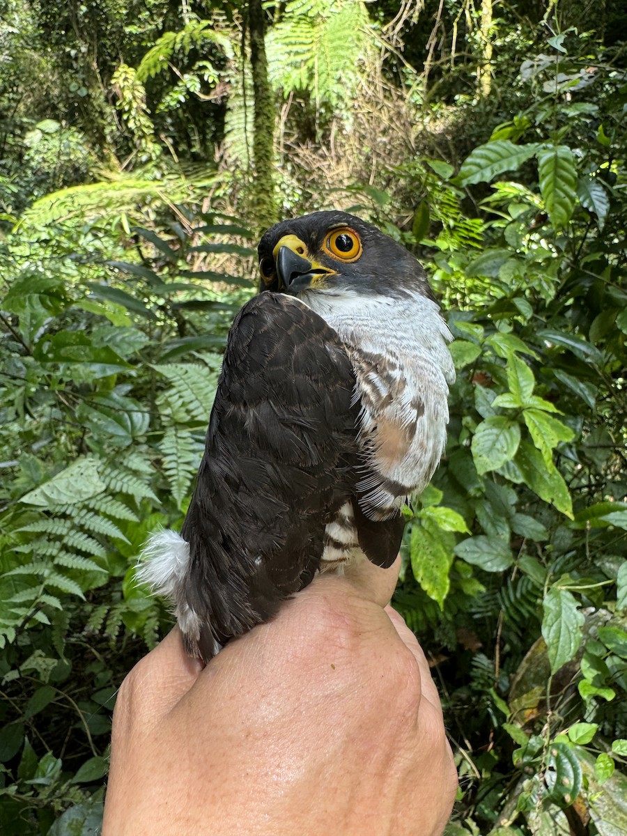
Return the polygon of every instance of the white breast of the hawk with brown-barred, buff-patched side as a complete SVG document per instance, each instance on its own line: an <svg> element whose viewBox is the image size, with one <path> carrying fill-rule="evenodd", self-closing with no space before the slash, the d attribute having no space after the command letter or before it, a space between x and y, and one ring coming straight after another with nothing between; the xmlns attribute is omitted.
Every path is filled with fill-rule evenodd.
<svg viewBox="0 0 627 836"><path fill-rule="evenodd" d="M448 384L455 380L451 333L437 304L419 293L317 292L306 303L338 332L357 378L359 442L368 464L359 504L371 519L393 516L423 490L444 451Z"/></svg>

